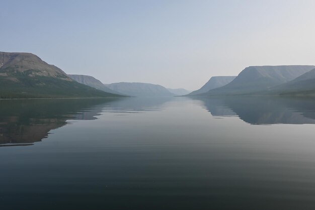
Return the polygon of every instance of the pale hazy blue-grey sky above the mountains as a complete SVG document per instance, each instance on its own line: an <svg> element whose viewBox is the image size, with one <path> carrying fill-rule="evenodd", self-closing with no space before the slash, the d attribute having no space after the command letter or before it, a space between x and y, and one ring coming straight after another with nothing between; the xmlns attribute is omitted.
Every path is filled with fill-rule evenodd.
<svg viewBox="0 0 315 210"><path fill-rule="evenodd" d="M315 1L0 1L0 51L104 83L190 90L251 65L315 64Z"/></svg>

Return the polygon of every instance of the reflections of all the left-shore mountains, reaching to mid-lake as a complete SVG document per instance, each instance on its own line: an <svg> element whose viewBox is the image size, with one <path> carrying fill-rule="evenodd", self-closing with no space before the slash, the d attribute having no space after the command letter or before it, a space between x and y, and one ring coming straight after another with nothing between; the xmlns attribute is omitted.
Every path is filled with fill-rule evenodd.
<svg viewBox="0 0 315 210"><path fill-rule="evenodd" d="M65 126L67 120L96 120L102 112L160 111L161 107L154 106L166 100L169 98L0 100L0 147L32 145Z"/></svg>

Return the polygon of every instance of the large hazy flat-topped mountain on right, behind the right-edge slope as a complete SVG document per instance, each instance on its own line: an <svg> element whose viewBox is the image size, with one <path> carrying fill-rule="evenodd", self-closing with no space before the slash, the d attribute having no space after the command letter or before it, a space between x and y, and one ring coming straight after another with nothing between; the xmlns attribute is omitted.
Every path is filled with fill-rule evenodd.
<svg viewBox="0 0 315 210"><path fill-rule="evenodd" d="M250 66L230 83L212 89L206 95L255 94L291 81L315 66Z"/></svg>

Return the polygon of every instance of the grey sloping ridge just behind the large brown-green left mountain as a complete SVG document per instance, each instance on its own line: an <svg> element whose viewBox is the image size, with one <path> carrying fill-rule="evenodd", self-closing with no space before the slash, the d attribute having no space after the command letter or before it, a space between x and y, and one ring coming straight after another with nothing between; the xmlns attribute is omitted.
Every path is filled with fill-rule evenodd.
<svg viewBox="0 0 315 210"><path fill-rule="evenodd" d="M88 85L90 87L94 87L96 89L113 93L113 94L122 94L120 92L114 91L110 88L108 88L106 85L104 85L100 80L94 78L93 76L88 75L78 75L78 74L68 74L68 76L73 79L74 81L77 81L78 83Z"/></svg>

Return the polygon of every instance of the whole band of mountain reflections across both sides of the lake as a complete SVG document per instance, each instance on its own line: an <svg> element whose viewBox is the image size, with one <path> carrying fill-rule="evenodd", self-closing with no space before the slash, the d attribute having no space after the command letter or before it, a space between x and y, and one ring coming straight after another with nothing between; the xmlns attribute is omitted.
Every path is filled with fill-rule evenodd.
<svg viewBox="0 0 315 210"><path fill-rule="evenodd" d="M94 98L0 100L0 146L27 146L48 137L67 120L96 120L101 113L126 115L163 111L167 101L159 98ZM213 117L238 116L253 125L315 124L315 100L281 97L193 97Z"/></svg>

